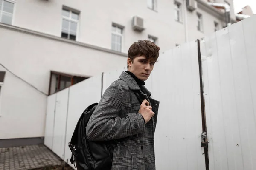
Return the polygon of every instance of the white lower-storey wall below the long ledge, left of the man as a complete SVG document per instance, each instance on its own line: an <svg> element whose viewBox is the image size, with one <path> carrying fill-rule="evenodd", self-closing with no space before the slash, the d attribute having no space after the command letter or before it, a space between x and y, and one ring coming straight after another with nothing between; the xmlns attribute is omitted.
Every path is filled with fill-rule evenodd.
<svg viewBox="0 0 256 170"><path fill-rule="evenodd" d="M93 76L126 65L124 54L13 29L0 26L0 63L47 94L50 70ZM0 70L6 71L1 67ZM44 136L46 104L44 94L6 71L1 89L0 139Z"/></svg>

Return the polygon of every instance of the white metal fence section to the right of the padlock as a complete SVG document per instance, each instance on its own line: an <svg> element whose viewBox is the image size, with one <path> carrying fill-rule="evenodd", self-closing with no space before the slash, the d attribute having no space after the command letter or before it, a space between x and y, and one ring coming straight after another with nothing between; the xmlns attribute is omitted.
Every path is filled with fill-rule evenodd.
<svg viewBox="0 0 256 170"><path fill-rule="evenodd" d="M201 40L210 170L256 170L256 16Z"/></svg>

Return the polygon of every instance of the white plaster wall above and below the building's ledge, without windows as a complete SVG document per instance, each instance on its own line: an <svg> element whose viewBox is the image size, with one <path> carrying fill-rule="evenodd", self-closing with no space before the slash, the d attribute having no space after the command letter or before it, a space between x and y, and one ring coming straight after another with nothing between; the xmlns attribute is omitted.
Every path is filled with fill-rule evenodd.
<svg viewBox="0 0 256 170"><path fill-rule="evenodd" d="M186 42L186 28L191 41L214 32L214 21L223 23L209 8L198 6L189 12L184 0L177 2L182 8L181 22L174 19L174 0L157 0L156 11L147 7L147 0L17 0L13 26L0 23L0 62L48 93L50 70L95 76L126 65L130 45L147 39L148 34L157 37L161 51L166 51ZM76 42L60 38L62 6L80 11ZM197 30L197 11L203 16L203 32ZM131 28L135 15L144 19L143 32ZM123 53L108 50L112 23L124 26ZM0 139L44 136L44 94L6 71L0 100Z"/></svg>

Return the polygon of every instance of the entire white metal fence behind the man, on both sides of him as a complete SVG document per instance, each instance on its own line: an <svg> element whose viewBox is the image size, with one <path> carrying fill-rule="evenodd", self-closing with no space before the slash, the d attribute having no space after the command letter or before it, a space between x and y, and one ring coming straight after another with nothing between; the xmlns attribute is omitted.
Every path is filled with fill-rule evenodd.
<svg viewBox="0 0 256 170"><path fill-rule="evenodd" d="M255 30L253 16L200 40L210 170L256 169ZM48 96L45 145L69 163L67 143L82 111L99 102L101 93L125 70L91 77ZM157 170L206 169L198 42L160 54L146 87L160 101Z"/></svg>

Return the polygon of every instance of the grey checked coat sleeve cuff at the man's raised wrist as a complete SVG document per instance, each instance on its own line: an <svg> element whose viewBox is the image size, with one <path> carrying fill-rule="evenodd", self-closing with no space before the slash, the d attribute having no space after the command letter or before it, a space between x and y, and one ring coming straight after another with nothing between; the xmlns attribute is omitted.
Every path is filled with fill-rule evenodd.
<svg viewBox="0 0 256 170"><path fill-rule="evenodd" d="M131 113L127 115L130 119L131 128L138 130L138 133L143 133L145 131L145 120L143 116L140 113Z"/></svg>

